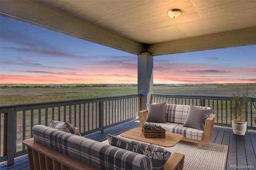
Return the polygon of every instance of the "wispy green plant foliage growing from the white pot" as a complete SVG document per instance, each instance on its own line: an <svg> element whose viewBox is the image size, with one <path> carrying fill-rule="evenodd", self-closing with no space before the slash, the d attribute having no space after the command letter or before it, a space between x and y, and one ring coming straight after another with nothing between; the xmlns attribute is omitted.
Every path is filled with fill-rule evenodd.
<svg viewBox="0 0 256 170"><path fill-rule="evenodd" d="M247 109L249 107L249 93L246 90L244 93L240 93L239 90L236 93L232 93L232 98L230 100L230 108L232 115L238 121L242 121L245 118Z"/></svg>

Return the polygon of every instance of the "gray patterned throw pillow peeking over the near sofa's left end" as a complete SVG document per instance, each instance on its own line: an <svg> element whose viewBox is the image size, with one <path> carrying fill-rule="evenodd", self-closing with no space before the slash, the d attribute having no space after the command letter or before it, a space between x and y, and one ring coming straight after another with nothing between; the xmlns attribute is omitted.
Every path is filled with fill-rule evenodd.
<svg viewBox="0 0 256 170"><path fill-rule="evenodd" d="M81 134L76 130L76 128L68 122L51 121L50 127L81 136Z"/></svg>

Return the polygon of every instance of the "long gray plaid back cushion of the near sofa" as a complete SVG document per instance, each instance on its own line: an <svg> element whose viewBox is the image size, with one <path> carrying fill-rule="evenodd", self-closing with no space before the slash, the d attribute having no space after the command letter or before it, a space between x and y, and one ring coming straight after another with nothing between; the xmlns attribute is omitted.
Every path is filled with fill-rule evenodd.
<svg viewBox="0 0 256 170"><path fill-rule="evenodd" d="M34 140L101 170L151 170L147 156L43 125L32 127Z"/></svg>

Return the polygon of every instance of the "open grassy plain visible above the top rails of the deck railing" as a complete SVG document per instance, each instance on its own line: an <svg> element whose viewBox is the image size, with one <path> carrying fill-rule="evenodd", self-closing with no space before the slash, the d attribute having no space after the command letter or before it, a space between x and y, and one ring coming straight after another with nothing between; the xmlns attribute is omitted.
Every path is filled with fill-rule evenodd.
<svg viewBox="0 0 256 170"><path fill-rule="evenodd" d="M3 87L4 85L0 85ZM63 101L72 99L86 99L97 97L111 97L119 95L137 94L137 86L132 85L108 85L108 87L76 87L69 85L68 88L34 88L35 85L22 85L24 88L12 88L14 85L8 85L9 88L0 89L0 105L14 105L23 103L38 103L46 101ZM19 85L20 86L20 85ZM29 88L25 88L29 86ZM64 86L64 85L63 85ZM250 97L256 97L256 84L232 84L232 85L154 85L156 94L172 95L204 95L204 96L222 96L231 97L237 89L249 91Z"/></svg>

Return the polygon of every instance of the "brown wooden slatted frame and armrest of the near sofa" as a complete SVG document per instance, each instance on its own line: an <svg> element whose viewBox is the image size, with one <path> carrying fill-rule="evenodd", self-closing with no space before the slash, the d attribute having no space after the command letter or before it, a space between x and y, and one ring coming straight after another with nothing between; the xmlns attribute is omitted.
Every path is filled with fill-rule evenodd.
<svg viewBox="0 0 256 170"><path fill-rule="evenodd" d="M44 146L34 138L23 141L28 150L28 164L30 170L99 170L94 166ZM162 170L182 170L184 154L173 153Z"/></svg>

